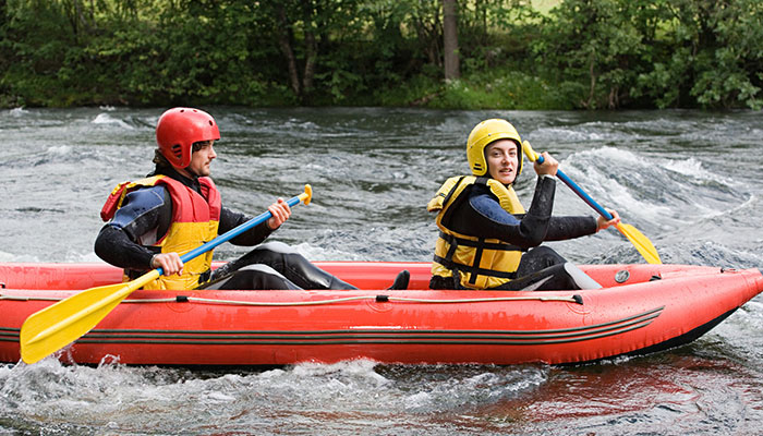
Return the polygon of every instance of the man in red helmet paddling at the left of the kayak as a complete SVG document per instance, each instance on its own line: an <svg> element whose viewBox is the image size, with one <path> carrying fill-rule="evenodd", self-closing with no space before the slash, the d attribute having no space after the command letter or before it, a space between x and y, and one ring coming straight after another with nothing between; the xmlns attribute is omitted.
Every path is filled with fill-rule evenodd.
<svg viewBox="0 0 763 436"><path fill-rule="evenodd" d="M281 242L263 243L291 216L283 198L268 206L272 217L230 240L255 246L250 253L211 270L211 251L183 264L180 256L252 217L222 206L210 174L220 130L207 112L173 108L156 126L154 171L119 184L101 218L107 223L95 253L124 269L124 280L161 268L164 275L144 289L355 289L324 271ZM408 284L407 271L393 289Z"/></svg>

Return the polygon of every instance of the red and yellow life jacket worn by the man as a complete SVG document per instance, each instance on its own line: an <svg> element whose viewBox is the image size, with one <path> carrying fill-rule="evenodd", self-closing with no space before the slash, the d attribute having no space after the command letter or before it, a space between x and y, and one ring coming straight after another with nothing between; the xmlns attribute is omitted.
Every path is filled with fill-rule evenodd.
<svg viewBox="0 0 763 436"><path fill-rule="evenodd" d="M172 198L172 223L167 233L152 245L154 252L183 255L191 250L211 241L217 237L220 221L220 193L211 179L198 178L202 194L183 183L165 175L154 175L136 182L124 182L111 191L100 211L104 221L113 218L117 209L122 207L124 197L131 191L142 187L164 185ZM213 251L196 256L183 264L183 272L172 276L160 276L143 289L194 289L199 284L202 275L208 276L211 267ZM125 270L124 280L130 280L130 271Z"/></svg>

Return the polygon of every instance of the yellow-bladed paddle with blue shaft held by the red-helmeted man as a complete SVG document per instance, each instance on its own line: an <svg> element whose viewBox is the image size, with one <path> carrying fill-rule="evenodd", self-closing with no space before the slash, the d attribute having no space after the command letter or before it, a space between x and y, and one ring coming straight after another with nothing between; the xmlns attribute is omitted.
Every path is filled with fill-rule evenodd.
<svg viewBox="0 0 763 436"><path fill-rule="evenodd" d="M295 206L300 202L307 205L312 197L313 189L306 184L302 194L289 198L287 203L289 206ZM272 217L272 214L265 211L204 245L185 253L180 259L186 263L254 228L270 217ZM80 339L104 319L130 293L159 278L161 274L161 268L157 268L126 283L90 288L29 315L21 327L19 338L21 358L26 363L35 363Z"/></svg>

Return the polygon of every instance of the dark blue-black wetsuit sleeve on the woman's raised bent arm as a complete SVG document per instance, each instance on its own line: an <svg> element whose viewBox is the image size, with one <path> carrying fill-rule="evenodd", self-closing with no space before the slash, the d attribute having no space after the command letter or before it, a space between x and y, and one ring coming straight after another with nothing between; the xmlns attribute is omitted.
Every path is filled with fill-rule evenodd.
<svg viewBox="0 0 763 436"><path fill-rule="evenodd" d="M453 230L477 238L500 239L525 249L537 246L546 238L555 189L554 179L538 178L530 209L514 216L500 207L487 187L474 186L469 201L453 216Z"/></svg>

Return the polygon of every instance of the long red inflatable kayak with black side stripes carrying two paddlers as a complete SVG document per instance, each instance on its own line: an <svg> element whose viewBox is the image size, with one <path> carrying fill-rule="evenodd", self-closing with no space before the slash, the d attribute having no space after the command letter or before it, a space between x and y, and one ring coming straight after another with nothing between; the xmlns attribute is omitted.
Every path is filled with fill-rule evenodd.
<svg viewBox="0 0 763 436"><path fill-rule="evenodd" d="M150 365L582 363L688 343L763 291L760 269L581 266L602 289L511 292L428 290L428 263L317 264L361 290L138 290L57 356ZM409 289L386 290L402 269ZM0 264L0 361L19 362L29 315L120 281L106 264Z"/></svg>

